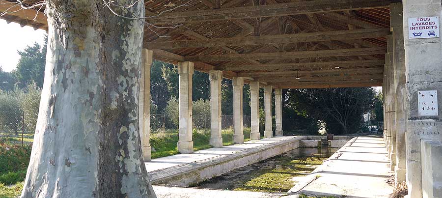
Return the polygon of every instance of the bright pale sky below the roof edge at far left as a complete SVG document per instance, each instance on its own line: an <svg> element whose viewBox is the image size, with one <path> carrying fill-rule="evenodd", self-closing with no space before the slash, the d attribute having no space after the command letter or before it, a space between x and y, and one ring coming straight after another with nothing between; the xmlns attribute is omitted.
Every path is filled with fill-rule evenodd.
<svg viewBox="0 0 442 198"><path fill-rule="evenodd" d="M23 50L28 45L37 42L43 44L45 30L25 26L20 27L20 24L10 23L0 19L0 66L6 72L10 72L17 66L20 55L17 50Z"/></svg>

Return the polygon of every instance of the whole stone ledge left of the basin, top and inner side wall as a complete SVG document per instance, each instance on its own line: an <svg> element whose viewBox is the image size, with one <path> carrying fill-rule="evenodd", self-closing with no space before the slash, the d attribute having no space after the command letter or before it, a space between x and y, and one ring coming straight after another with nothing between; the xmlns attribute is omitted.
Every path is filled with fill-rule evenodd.
<svg viewBox="0 0 442 198"><path fill-rule="evenodd" d="M304 136L276 136L145 163L152 183L189 186L299 147Z"/></svg>

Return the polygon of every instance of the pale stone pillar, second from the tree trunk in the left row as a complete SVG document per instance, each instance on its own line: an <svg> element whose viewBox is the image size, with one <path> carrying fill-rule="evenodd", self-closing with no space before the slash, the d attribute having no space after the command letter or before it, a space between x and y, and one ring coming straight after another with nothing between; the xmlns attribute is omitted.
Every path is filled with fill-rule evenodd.
<svg viewBox="0 0 442 198"><path fill-rule="evenodd" d="M180 75L178 151L180 153L193 153L193 141L192 141L193 62L187 62L187 61L179 62L178 74Z"/></svg>

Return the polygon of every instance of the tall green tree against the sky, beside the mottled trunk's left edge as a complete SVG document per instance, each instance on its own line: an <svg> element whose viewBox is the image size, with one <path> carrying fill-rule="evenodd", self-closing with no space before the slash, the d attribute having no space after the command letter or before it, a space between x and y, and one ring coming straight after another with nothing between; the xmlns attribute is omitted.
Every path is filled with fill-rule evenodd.
<svg viewBox="0 0 442 198"><path fill-rule="evenodd" d="M40 88L43 87L47 41L48 37L45 36L43 46L34 43L23 51L18 51L20 59L17 68L13 71L13 76L20 88L24 88L32 82L35 82Z"/></svg>

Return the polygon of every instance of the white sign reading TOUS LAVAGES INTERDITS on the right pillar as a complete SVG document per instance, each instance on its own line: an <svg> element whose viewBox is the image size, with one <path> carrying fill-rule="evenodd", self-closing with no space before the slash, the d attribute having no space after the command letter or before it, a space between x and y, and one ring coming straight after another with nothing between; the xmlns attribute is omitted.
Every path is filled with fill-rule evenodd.
<svg viewBox="0 0 442 198"><path fill-rule="evenodd" d="M408 37L439 38L439 17L420 17L408 19Z"/></svg>

